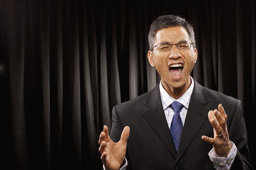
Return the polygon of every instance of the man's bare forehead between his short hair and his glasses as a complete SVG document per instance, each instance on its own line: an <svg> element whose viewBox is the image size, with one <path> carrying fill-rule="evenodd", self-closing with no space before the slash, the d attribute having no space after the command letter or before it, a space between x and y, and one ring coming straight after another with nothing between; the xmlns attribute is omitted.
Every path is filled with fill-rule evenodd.
<svg viewBox="0 0 256 170"><path fill-rule="evenodd" d="M189 33L183 26L172 26L157 31L155 41L157 43L169 42L177 43L180 41L189 41Z"/></svg>

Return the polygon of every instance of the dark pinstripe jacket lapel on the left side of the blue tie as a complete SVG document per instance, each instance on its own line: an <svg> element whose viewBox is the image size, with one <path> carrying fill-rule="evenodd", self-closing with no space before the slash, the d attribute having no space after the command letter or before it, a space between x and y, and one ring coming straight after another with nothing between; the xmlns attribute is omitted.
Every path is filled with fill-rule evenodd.
<svg viewBox="0 0 256 170"><path fill-rule="evenodd" d="M176 157L177 153L172 140L172 135L166 121L163 111L163 105L160 97L159 83L151 90L148 98L145 100L147 109L143 112L143 116L148 121L148 124L158 135L163 144L167 147L172 156Z"/></svg>

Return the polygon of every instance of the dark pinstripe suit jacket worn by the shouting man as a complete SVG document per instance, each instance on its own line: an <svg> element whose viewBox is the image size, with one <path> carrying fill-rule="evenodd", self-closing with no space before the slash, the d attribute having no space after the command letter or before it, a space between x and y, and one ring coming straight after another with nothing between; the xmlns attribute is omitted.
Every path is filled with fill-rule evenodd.
<svg viewBox="0 0 256 170"><path fill-rule="evenodd" d="M119 141L123 128L130 127L125 156L128 170L213 170L208 156L212 145L201 136L213 137L207 115L209 110L218 109L218 104L227 113L230 141L238 149L231 170L253 169L241 101L194 82L177 153L163 111L160 82L151 91L113 107L112 140Z"/></svg>

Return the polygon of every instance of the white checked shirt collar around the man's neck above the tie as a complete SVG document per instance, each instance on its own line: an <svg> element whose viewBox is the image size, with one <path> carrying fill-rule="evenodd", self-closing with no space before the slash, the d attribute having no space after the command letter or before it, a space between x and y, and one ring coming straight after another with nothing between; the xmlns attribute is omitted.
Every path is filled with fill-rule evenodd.
<svg viewBox="0 0 256 170"><path fill-rule="evenodd" d="M160 95L161 95L161 100L162 100L162 104L163 104L163 110L165 110L167 107L169 107L169 105L172 104L172 102L174 102L174 101L180 102L181 104L183 104L183 106L186 107L186 109L188 109L190 97L191 97L192 91L194 89L194 80L191 76L190 76L190 79L191 79L191 85L189 86L189 89L187 89L187 91L177 100L172 98L166 92L166 90L163 88L163 85L161 83L162 81L160 81L159 89L160 89Z"/></svg>

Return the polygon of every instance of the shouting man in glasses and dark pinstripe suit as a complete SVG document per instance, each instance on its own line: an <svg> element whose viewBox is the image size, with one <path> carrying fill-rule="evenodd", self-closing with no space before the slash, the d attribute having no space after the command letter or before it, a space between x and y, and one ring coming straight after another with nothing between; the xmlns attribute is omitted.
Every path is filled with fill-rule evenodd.
<svg viewBox="0 0 256 170"><path fill-rule="evenodd" d="M191 24L160 16L148 41L148 61L161 81L113 107L110 136L107 126L99 136L103 168L252 170L241 101L190 76L198 55Z"/></svg>

